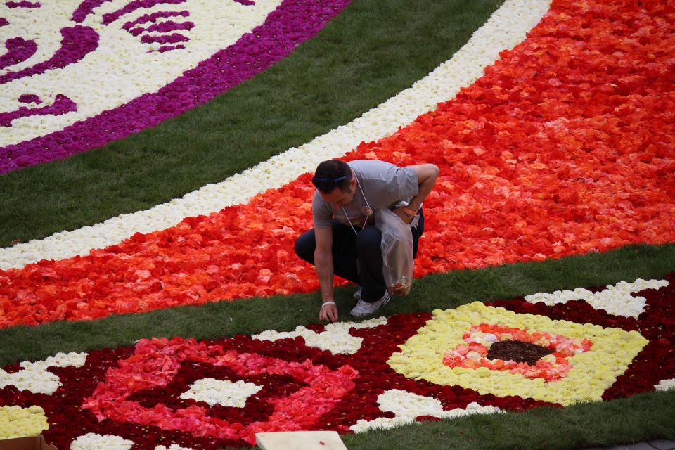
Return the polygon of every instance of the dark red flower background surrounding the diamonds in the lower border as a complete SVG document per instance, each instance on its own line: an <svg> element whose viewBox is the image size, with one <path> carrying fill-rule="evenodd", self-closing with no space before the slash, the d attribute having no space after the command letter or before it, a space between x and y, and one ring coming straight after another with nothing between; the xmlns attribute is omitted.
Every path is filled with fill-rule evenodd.
<svg viewBox="0 0 675 450"><path fill-rule="evenodd" d="M551 319L561 319L576 323L592 323L603 327L636 330L649 342L629 365L628 370L620 375L615 383L605 391L604 400L628 397L640 392L655 390L660 380L675 378L675 272L665 279L669 285L659 289L647 289L634 295L647 299L645 311L637 319L608 314L603 309L593 309L583 300L572 300L565 304L548 306L542 302L529 303L524 297L512 300L496 300L486 303L492 307L503 307L520 314L538 314ZM589 288L600 290L602 288ZM304 345L302 338L285 338L274 342L255 340L250 336L236 335L233 338L202 341L207 346L216 346L219 352L233 350L238 354L257 354L263 358L274 358L289 363L311 361L314 366L326 366L336 371L343 366L350 366L358 372L354 378L354 388L347 392L338 404L321 416L314 425L316 430L335 430L340 433L349 430L357 420L373 420L378 417L393 417L393 413L380 410L378 395L385 390L399 389L422 396L438 399L444 410L465 408L472 402L482 406L497 406L506 411L524 411L537 406L562 407L544 401L535 401L518 396L496 397L493 394L479 394L474 390L459 386L436 385L426 380L411 380L395 372L387 365L390 355L399 350L417 330L425 326L432 318L428 312L416 314L395 314L388 318L386 325L375 328L350 330L350 334L363 338L361 348L356 354L332 354L314 347ZM324 326L317 324L308 328L321 333ZM181 338L174 338L181 340ZM195 436L190 432L162 430L148 425L121 423L115 420L99 422L91 411L82 409L84 399L91 396L96 387L105 380L106 371L117 368L120 361L134 355L134 347L117 349L101 349L89 353L86 364L80 368L62 367L49 370L60 377L63 385L53 394L32 394L18 391L13 386L0 390L0 405L42 406L48 417L50 428L44 432L46 439L58 448L68 449L70 442L88 432L101 435L118 435L136 442L134 449L153 450L155 446L179 444L193 449L215 450L221 446L248 445L243 440L214 439ZM7 366L6 371L18 371L16 364ZM224 406L208 406L193 399L180 399L181 392L186 390L198 378L218 378L229 380L246 380L264 385L257 399L249 398L245 408ZM233 423L251 423L264 420L271 413L267 400L288 396L302 387L302 383L287 375L253 375L237 376L229 369L217 367L200 361L184 361L179 375L162 389L149 389L135 392L134 401L143 406L163 404L171 409L185 408L198 404L209 409L212 416L229 420ZM437 420L431 416L420 416L418 421Z"/></svg>

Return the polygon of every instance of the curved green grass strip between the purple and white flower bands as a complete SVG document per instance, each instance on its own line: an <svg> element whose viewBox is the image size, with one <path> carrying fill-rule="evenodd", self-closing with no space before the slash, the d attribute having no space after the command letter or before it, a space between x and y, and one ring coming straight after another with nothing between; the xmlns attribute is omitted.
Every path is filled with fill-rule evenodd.
<svg viewBox="0 0 675 450"><path fill-rule="evenodd" d="M205 105L1 176L0 246L146 210L347 124L449 59L502 3L354 0L288 58Z"/></svg>

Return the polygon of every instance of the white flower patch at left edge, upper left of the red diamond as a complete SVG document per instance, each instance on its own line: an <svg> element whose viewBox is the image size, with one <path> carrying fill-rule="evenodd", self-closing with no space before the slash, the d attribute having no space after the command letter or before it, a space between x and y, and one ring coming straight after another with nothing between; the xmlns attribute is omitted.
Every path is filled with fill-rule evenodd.
<svg viewBox="0 0 675 450"><path fill-rule="evenodd" d="M61 385L57 375L47 371L49 367L81 367L86 360L86 353L58 353L44 361L23 361L22 370L7 373L0 368L0 389L13 385L20 390L28 390L34 394L53 394Z"/></svg>

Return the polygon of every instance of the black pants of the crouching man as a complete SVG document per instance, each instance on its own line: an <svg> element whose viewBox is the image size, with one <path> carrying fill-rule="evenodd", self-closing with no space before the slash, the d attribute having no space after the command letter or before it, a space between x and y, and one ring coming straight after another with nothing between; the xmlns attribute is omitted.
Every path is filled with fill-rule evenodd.
<svg viewBox="0 0 675 450"><path fill-rule="evenodd" d="M413 256L417 256L420 236L424 232L424 214L420 209L420 221L413 233ZM340 278L361 285L361 300L376 302L385 295L385 278L382 272L383 259L380 242L382 233L376 226L356 228L343 225L333 219L333 273ZM295 241L295 253L314 264L316 238L314 229L302 234Z"/></svg>

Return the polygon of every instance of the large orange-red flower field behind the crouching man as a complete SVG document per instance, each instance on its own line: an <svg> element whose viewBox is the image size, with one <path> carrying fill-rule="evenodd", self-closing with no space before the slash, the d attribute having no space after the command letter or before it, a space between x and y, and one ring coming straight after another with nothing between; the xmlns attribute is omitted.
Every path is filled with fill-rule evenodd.
<svg viewBox="0 0 675 450"><path fill-rule="evenodd" d="M451 101L347 160L432 162L416 277L675 240L675 8L553 1ZM0 327L314 291L309 174L86 257L0 271Z"/></svg>

